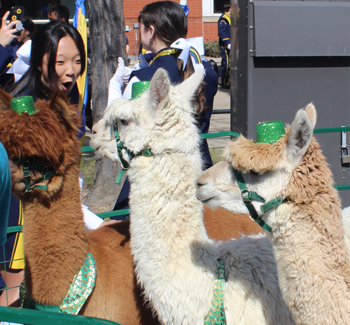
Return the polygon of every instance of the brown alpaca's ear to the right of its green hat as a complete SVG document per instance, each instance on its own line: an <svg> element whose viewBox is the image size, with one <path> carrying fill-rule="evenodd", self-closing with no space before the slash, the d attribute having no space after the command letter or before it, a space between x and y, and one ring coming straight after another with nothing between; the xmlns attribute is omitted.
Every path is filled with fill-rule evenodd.
<svg viewBox="0 0 350 325"><path fill-rule="evenodd" d="M76 127L78 127L76 119L78 107L70 105L69 99L63 92L57 91L52 95L50 109L57 114L59 120L62 120L67 130L76 130Z"/></svg>

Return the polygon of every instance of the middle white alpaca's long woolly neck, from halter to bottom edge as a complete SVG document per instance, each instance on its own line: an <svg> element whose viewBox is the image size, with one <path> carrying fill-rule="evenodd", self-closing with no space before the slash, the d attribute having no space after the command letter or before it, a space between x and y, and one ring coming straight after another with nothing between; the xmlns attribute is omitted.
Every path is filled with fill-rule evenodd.
<svg viewBox="0 0 350 325"><path fill-rule="evenodd" d="M132 161L130 246L139 283L163 324L203 324L211 304L218 252L208 244L195 197L200 172L199 153Z"/></svg>

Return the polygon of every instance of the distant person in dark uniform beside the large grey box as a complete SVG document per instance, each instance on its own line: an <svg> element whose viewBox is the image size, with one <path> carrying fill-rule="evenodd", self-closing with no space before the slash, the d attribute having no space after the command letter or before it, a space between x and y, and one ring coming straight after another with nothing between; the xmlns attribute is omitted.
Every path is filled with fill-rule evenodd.
<svg viewBox="0 0 350 325"><path fill-rule="evenodd" d="M230 50L231 50L231 4L226 2L224 13L218 20L218 36L221 54L221 88L230 88Z"/></svg>

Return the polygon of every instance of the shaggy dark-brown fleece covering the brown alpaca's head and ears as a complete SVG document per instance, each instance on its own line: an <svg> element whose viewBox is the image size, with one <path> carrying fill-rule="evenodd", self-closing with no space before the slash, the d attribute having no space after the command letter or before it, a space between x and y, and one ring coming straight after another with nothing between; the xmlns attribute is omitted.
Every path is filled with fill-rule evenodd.
<svg viewBox="0 0 350 325"><path fill-rule="evenodd" d="M36 102L37 113L18 116L18 113L8 109L8 99L11 98L5 92L0 93L0 117L6 120L6 127L0 130L0 138L9 158L40 157L41 163L53 167L56 174L64 174L64 168L78 158L78 139L66 137L67 132L78 132L77 107L64 109L68 106L68 99L57 92L51 104L45 100Z"/></svg>

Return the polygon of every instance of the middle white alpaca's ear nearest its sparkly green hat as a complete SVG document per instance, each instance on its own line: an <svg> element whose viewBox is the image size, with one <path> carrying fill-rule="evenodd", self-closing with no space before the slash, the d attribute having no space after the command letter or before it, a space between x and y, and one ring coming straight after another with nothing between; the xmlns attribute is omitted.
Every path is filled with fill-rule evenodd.
<svg viewBox="0 0 350 325"><path fill-rule="evenodd" d="M148 107L151 109L151 111L153 111L153 113L157 110L157 108L161 109L162 106L159 105L162 102L167 102L166 99L169 96L169 90L170 81L167 76L167 72L165 69L160 68L155 72L148 90Z"/></svg>

